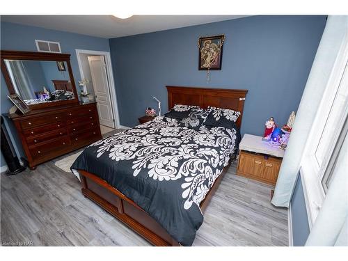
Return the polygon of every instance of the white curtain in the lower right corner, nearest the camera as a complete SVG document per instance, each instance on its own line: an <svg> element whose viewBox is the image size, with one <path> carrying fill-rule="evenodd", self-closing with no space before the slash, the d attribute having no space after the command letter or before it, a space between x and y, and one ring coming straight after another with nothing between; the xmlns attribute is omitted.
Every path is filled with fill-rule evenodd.
<svg viewBox="0 0 348 261"><path fill-rule="evenodd" d="M306 246L348 246L348 135L335 164L332 182Z"/></svg>

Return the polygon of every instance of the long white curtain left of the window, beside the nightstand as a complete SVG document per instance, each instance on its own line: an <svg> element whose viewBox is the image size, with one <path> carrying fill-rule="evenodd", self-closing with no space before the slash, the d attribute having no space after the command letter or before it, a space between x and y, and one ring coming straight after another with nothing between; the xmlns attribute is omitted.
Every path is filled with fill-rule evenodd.
<svg viewBox="0 0 348 261"><path fill-rule="evenodd" d="M331 75L331 70L347 33L347 16L329 16L317 54L303 91L290 141L280 167L274 197L277 207L289 207L299 173L303 150L315 120L319 103Z"/></svg>

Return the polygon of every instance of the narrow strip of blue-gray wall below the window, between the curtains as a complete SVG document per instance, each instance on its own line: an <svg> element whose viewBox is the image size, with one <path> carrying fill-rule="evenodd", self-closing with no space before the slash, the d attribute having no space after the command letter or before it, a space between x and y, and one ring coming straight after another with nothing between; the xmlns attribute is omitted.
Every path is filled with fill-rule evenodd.
<svg viewBox="0 0 348 261"><path fill-rule="evenodd" d="M299 176L296 181L290 204L292 216L292 241L294 246L304 246L310 230L301 176Z"/></svg>

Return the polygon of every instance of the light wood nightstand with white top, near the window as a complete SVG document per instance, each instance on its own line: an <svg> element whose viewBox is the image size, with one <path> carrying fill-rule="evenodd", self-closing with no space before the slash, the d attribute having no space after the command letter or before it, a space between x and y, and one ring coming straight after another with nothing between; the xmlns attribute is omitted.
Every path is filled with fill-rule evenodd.
<svg viewBox="0 0 348 261"><path fill-rule="evenodd" d="M262 141L261 136L244 134L239 143L237 175L275 185L285 151Z"/></svg>

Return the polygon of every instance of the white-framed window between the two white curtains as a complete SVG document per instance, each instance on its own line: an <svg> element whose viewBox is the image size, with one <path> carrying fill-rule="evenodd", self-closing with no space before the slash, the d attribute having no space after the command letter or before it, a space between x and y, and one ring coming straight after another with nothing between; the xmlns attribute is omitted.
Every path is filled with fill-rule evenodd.
<svg viewBox="0 0 348 261"><path fill-rule="evenodd" d="M301 161L310 227L330 188L335 164L347 136L348 40L342 45L320 102Z"/></svg>

